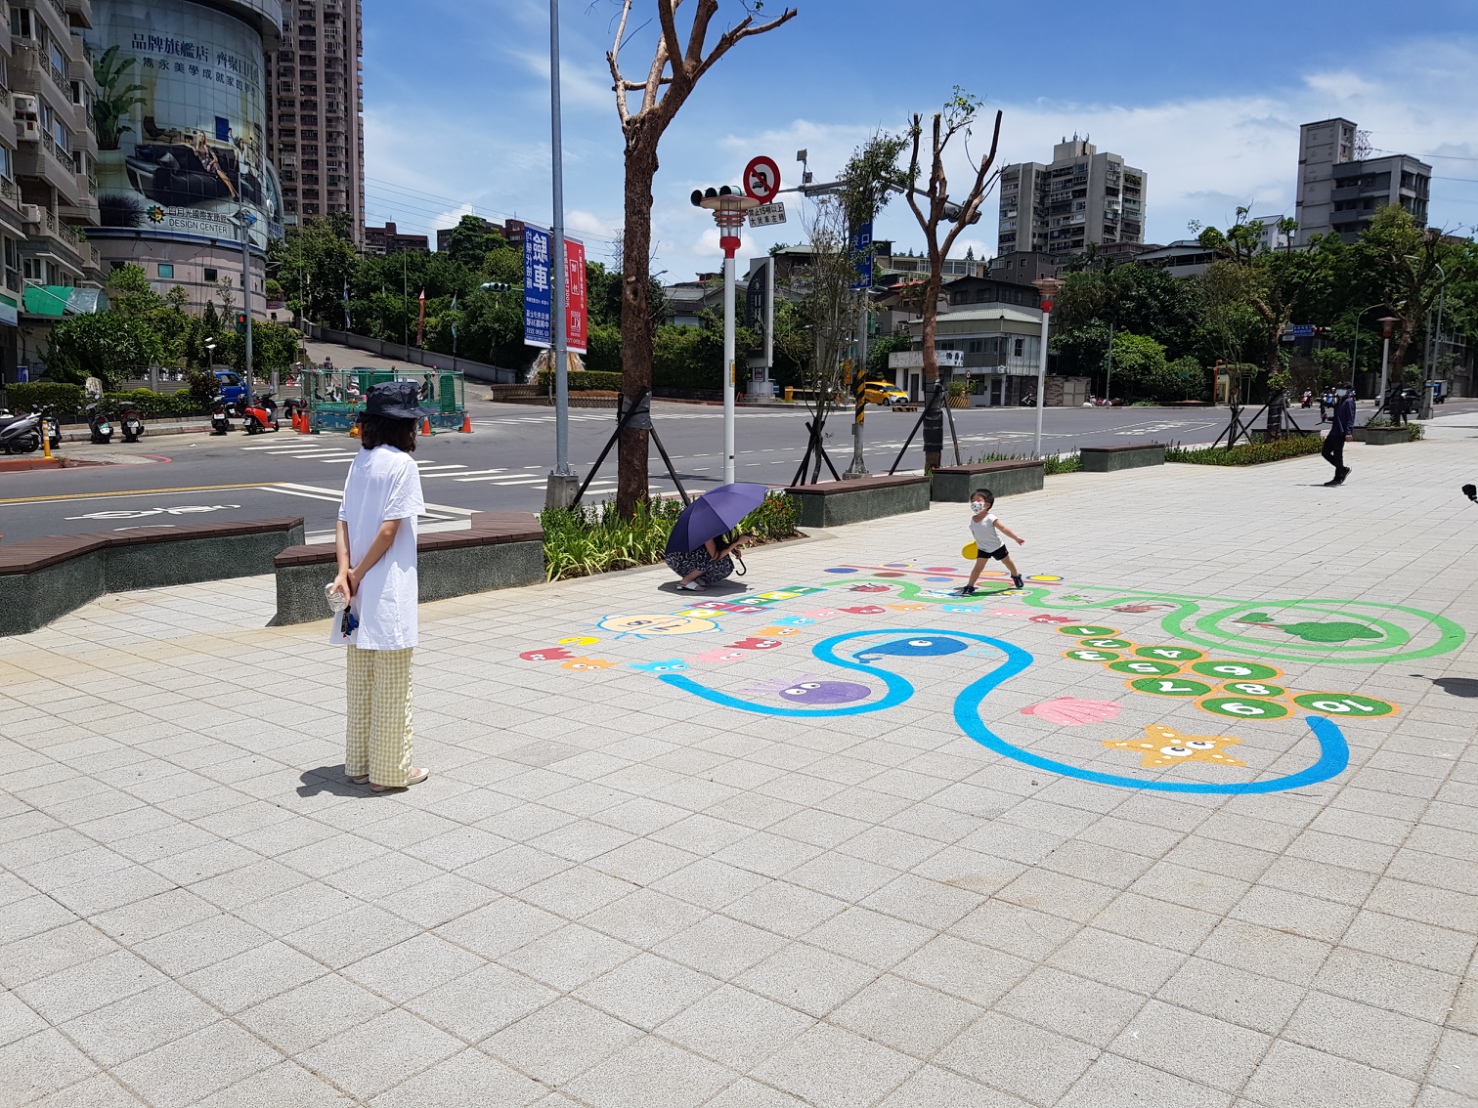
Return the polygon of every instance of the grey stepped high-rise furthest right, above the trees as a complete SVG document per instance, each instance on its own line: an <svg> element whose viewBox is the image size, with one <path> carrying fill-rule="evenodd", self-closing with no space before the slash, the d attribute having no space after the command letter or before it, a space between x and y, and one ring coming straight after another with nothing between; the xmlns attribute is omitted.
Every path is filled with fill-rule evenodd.
<svg viewBox="0 0 1478 1108"><path fill-rule="evenodd" d="M1338 233L1354 242L1379 208L1400 204L1426 226L1432 167L1410 154L1372 158L1349 120L1305 123L1298 137L1298 241Z"/></svg>

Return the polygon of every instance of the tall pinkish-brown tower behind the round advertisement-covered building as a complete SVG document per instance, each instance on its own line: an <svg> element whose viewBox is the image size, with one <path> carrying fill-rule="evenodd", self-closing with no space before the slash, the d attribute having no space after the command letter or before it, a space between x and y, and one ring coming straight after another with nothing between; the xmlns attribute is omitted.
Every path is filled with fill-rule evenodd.
<svg viewBox="0 0 1478 1108"><path fill-rule="evenodd" d="M347 211L365 228L364 21L359 0L282 0L282 47L268 58L268 146L284 222Z"/></svg>

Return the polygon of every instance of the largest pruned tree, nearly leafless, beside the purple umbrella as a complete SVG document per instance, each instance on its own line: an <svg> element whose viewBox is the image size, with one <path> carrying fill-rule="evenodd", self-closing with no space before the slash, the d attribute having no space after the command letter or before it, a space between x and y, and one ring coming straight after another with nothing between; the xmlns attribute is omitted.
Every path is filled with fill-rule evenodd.
<svg viewBox="0 0 1478 1108"><path fill-rule="evenodd" d="M720 0L695 0L687 44L678 34L677 15L684 0L652 0L661 34L646 77L627 80L621 72L621 47L627 38L636 0L621 0L616 38L606 61L610 64L616 93L616 115L625 136L625 230L621 244L621 391L636 399L652 387L652 328L647 307L652 275L652 180L658 170L658 143L668 124L708 72L739 40L773 31L795 18L789 7L764 24L754 22L760 3L738 0L743 18L706 46L709 27L718 15ZM633 108L633 95L638 93ZM647 433L628 428L618 449L616 510L631 516L647 496Z"/></svg>

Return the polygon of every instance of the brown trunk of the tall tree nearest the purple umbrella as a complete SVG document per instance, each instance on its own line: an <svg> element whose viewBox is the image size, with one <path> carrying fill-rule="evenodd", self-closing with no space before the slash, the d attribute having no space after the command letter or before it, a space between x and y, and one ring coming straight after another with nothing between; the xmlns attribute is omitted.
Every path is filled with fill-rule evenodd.
<svg viewBox="0 0 1478 1108"><path fill-rule="evenodd" d="M652 180L656 177L659 127L633 118L627 134L625 229L621 282L621 391L636 400L652 387ZM631 519L647 499L647 433L628 428L616 448L616 511Z"/></svg>

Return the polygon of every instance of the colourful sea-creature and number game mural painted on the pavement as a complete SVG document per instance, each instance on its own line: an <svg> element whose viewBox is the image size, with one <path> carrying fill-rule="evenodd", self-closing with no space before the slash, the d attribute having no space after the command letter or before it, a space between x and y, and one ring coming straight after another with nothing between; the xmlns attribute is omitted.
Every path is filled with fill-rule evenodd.
<svg viewBox="0 0 1478 1108"><path fill-rule="evenodd" d="M714 728L724 712L838 719L952 705L959 733L1045 773L1265 793L1338 776L1351 737L1400 712L1361 691L1377 666L1465 640L1443 616L1373 601L1253 604L1051 575L1015 589L999 573L962 598L967 578L956 566L834 566L804 585L606 616L519 657L572 680L618 669L656 681L712 705Z"/></svg>

